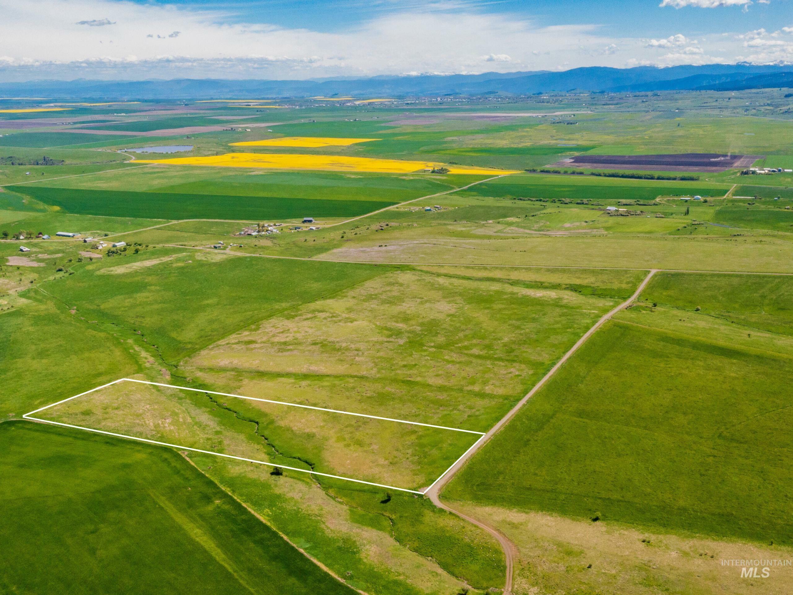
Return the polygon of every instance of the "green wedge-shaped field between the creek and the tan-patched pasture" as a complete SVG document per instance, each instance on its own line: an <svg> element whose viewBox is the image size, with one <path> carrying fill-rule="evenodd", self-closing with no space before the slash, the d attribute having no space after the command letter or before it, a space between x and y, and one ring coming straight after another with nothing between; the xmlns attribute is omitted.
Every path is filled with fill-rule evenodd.
<svg viewBox="0 0 793 595"><path fill-rule="evenodd" d="M179 248L150 248L75 269L74 275L48 283L48 293L91 320L115 322L129 333L140 330L168 362L279 310L388 270ZM192 322L182 324L187 311Z"/></svg>

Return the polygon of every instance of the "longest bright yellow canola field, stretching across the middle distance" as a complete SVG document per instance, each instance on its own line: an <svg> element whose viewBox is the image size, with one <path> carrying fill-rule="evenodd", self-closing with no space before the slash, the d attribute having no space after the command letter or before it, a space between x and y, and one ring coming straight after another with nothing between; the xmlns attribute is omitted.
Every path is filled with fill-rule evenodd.
<svg viewBox="0 0 793 595"><path fill-rule="evenodd" d="M212 167L268 167L278 170L372 171L384 174L410 174L414 171L446 167L450 174L497 175L518 174L519 171L495 170L488 167L445 166L427 161L372 159L346 155L283 155L265 153L226 153L209 157L177 157L175 159L136 159L135 163L164 165L204 165Z"/></svg>

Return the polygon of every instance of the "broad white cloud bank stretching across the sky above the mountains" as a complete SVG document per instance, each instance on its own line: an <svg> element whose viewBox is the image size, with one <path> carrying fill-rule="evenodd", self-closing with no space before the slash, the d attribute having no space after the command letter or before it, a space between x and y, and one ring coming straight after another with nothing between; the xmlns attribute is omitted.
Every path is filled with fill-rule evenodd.
<svg viewBox="0 0 793 595"><path fill-rule="evenodd" d="M465 0L393 2L397 10L384 10L370 21L328 33L230 21L228 11L197 10L182 4L0 0L0 71L5 80L308 79L625 67L633 63L671 66L734 62L745 48L752 48L758 56L784 50L783 46L745 45L753 39L770 39L761 30L753 32L757 33L753 38L740 40L734 33L700 36L698 40L677 33L648 40L607 35L591 25L540 26L513 13L477 11ZM79 25L75 14L102 18L79 21L83 23ZM94 21L108 21L113 26L90 25ZM665 51L664 56L658 56L663 53L659 49ZM626 63L627 56L633 62Z"/></svg>

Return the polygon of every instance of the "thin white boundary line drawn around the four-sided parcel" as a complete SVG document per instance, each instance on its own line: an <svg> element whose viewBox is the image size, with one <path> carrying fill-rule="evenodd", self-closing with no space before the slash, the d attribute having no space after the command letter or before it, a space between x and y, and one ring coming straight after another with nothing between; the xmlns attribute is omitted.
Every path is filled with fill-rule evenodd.
<svg viewBox="0 0 793 595"><path fill-rule="evenodd" d="M238 456L235 456L235 455L224 455L223 453L220 453L220 452L204 451L204 450L201 450L200 448L186 447L186 446L182 446L181 444L171 444L171 443L168 443L168 442L160 442L159 440L149 440L147 438L138 438L137 436L127 436L126 434L117 434L116 432L107 432L105 430L97 430L97 429L94 429L94 428L85 428L85 427L79 426L79 425L63 424L60 421L43 420L40 417L33 417L33 415L35 413L39 413L40 411L44 411L44 409L49 409L51 407L55 407L56 405L60 405L61 403L65 403L67 401L71 401L72 399L76 399L77 397L82 397L83 395L86 395L86 394L89 394L89 393L93 393L96 390L102 390L104 388L107 388L108 386L113 386L114 384L118 384L119 382L140 382L140 384L151 384L151 385L154 385L154 386L166 386L167 388L173 388L173 389L179 389L179 390L192 390L193 392L196 392L196 393L217 394L217 395L220 395L220 396L223 396L223 397L236 397L236 398L239 398L239 399L247 399L249 401L262 401L262 402L265 402L265 403L274 403L276 405L289 405L290 407L301 407L303 409L316 409L318 411L327 411L329 413L343 413L344 415L354 415L354 416L357 416L357 417L370 417L371 419L374 419L374 420L395 421L395 422L400 423L400 424L420 425L420 426L424 426L424 427L427 427L427 428L436 428L436 429L441 429L441 430L451 430L452 432L465 432L465 433L468 433L468 434L477 434L479 436L479 438L477 438L477 441L474 442L456 461L454 461L454 463L451 464L449 469L446 469L445 471L443 471L443 473L440 474L439 478L435 479L435 482L432 482L429 487L427 487L426 489L423 489L423 490L416 490L416 489L398 488L397 486L388 486L388 485L385 485L385 484L382 484L382 483L365 482L362 479L346 478L346 477L343 477L341 475L332 475L332 474L328 474L328 473L320 473L319 471L310 470L310 469L298 469L297 467L279 465L279 464L276 464L276 463L268 463L267 461L259 461L259 460L256 460L256 459L246 459L245 457L238 457ZM59 426L63 426L64 428L75 428L75 429L78 429L78 430L84 430L86 432L95 432L97 434L105 434L106 436L116 436L117 438L125 438L127 440L137 440L139 442L145 442L145 443L150 443L150 444L158 444L159 446L178 448L178 449L185 450L185 451L201 452L201 453L203 453L205 455L215 455L215 456L219 456L219 457L224 457L225 459L236 459L238 461L246 461L247 463L258 463L259 465L267 465L267 466L272 466L272 467L281 467L282 469L300 471L301 473L308 473L308 474L313 474L313 475L321 475L321 476L326 477L326 478L342 479L342 480L347 481L347 482L362 483L362 484L365 484L366 486L376 486L376 487L379 487L379 488L397 489L400 492L418 493L418 494L421 494L421 495L426 493L427 490L430 489L432 486L435 486L435 484L437 482L439 482L439 480L444 475L446 475L449 472L449 470L452 469L454 467L454 465L456 465L457 462L460 459L462 459L465 455L467 455L468 452L473 447L475 447L479 443L480 440L482 440L485 437L485 432L474 432L473 430L463 430L463 429L460 429L460 428L447 428L446 426L442 426L442 425L422 424L422 423L420 423L418 421L396 420L396 419L393 419L391 417L377 417L377 416L374 416L374 415L366 415L364 413L351 413L349 411L339 411L337 409L324 409L323 407L312 407L311 405L297 405L296 403L285 403L285 402L282 402L282 401L270 401L270 399L258 399L258 398L255 398L255 397L243 397L242 395L239 395L239 394L218 393L218 392L216 392L214 390L191 389L191 388L188 388L186 386L174 386L172 384L163 384L161 382L149 382L147 380L135 380L133 378L119 378L118 380L114 380L113 382L108 382L107 384L103 384L102 386L97 386L94 389L86 390L84 393L75 394L74 397L68 397L68 398L62 399L60 401L57 401L55 403L52 403L50 405L44 405L44 407L40 407L39 409L31 411L30 413L25 413L22 416L22 418L25 419L25 420L40 421L41 423L44 423L44 424L59 425Z"/></svg>

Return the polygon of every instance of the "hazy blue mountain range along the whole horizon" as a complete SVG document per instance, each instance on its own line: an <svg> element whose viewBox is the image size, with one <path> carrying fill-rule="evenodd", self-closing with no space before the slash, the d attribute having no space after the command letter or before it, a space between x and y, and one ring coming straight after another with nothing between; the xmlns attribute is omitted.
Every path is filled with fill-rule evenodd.
<svg viewBox="0 0 793 595"><path fill-rule="evenodd" d="M793 65L711 64L658 68L584 67L569 71L486 72L482 75L374 76L316 80L172 79L0 83L0 96L96 99L278 97L416 97L528 95L569 92L745 90L793 86Z"/></svg>

